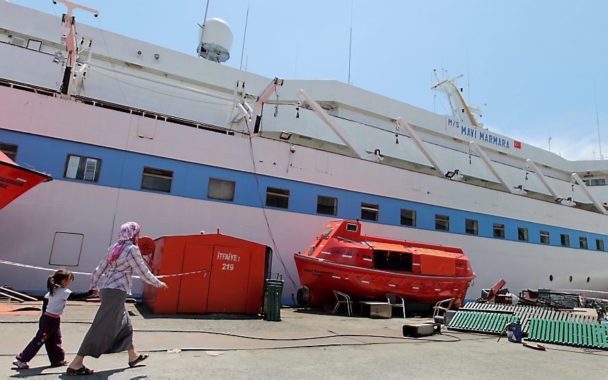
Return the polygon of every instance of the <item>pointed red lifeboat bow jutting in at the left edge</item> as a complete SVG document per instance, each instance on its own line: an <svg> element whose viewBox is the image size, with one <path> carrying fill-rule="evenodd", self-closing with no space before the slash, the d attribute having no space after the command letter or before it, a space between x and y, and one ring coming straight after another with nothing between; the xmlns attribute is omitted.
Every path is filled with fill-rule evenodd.
<svg viewBox="0 0 608 380"><path fill-rule="evenodd" d="M52 179L46 173L18 166L0 152L0 210L27 190Z"/></svg>

